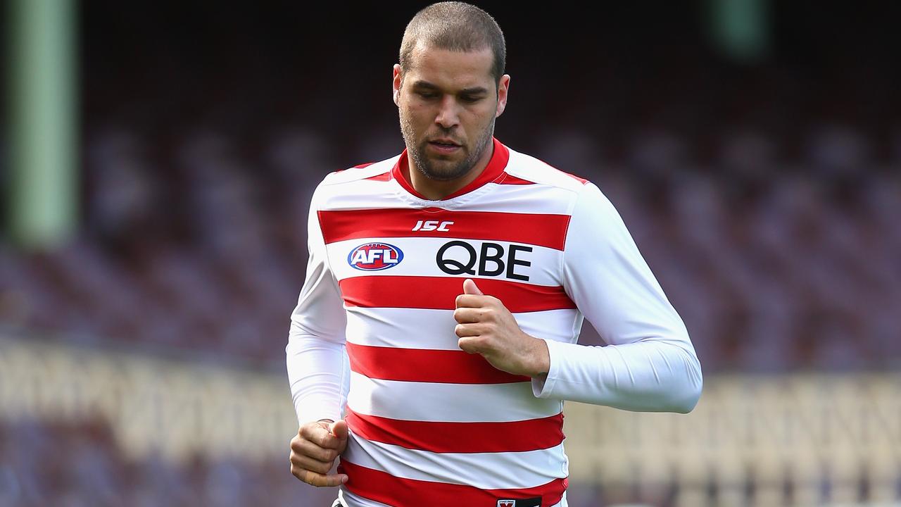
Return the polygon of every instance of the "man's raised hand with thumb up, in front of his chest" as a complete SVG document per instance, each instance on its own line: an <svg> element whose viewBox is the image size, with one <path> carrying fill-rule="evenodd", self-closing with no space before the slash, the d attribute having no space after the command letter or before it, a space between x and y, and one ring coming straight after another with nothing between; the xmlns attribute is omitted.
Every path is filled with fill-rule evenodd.
<svg viewBox="0 0 901 507"><path fill-rule="evenodd" d="M461 349L480 354L498 370L536 377L548 373L551 355L544 340L526 335L501 300L486 296L475 281L463 281L453 318Z"/></svg>

